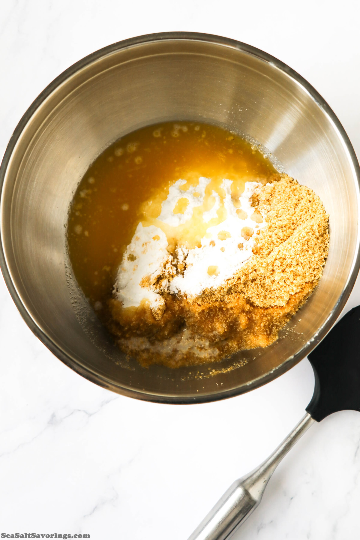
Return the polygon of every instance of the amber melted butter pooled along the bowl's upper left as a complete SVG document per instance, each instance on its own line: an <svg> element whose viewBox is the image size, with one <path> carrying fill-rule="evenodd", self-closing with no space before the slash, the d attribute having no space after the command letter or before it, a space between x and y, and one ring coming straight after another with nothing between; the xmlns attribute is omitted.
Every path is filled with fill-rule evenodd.
<svg viewBox="0 0 360 540"><path fill-rule="evenodd" d="M92 305L106 301L139 221L160 227L169 250L176 245L199 247L207 228L226 218L223 179L233 181L236 206L246 181L263 181L273 172L257 149L217 126L171 122L127 134L94 161L71 203L67 241L80 287ZM200 177L209 178L210 183L191 219L177 227L160 222L169 187L180 178L186 180L181 186L184 197L176 208L180 215L188 206L186 192L198 186ZM203 214L217 204L213 192L220 205L215 217L205 222ZM193 191L193 196L200 197L199 191Z"/></svg>

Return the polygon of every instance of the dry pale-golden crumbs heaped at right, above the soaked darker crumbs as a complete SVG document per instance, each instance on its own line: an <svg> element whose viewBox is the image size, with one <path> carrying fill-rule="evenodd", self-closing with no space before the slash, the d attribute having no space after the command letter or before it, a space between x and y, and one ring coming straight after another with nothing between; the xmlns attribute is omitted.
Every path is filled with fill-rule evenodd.
<svg viewBox="0 0 360 540"><path fill-rule="evenodd" d="M253 257L222 287L204 291L200 301L229 302L242 293L254 306L286 306L305 285L317 285L329 251L329 216L310 188L287 174L270 180L253 196L255 211L267 222Z"/></svg>

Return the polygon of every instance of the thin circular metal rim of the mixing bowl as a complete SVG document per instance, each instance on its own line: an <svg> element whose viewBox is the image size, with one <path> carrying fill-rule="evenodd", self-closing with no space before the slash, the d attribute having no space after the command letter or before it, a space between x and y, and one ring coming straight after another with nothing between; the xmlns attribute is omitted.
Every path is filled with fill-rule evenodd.
<svg viewBox="0 0 360 540"><path fill-rule="evenodd" d="M354 172L356 174L358 186L360 189L360 166L359 166L354 148L352 147L352 144L350 142L350 139L347 133L344 130L344 127L342 126L341 122L339 122L334 111L332 111L330 106L327 104L327 102L325 102L323 97L314 89L314 87L311 86L311 84L308 83L307 80L305 80L295 70L291 69L287 64L284 64L283 62L281 62L281 60L275 58L274 56L269 55L267 52L264 52L260 49L255 48L252 45L248 45L246 43L239 42L235 39L230 39L230 38L226 38L222 36L216 36L216 35L200 33L200 32L159 32L159 33L146 34L142 36L137 36L137 37L121 40L111 45L107 45L104 48L94 51L90 55L87 55L84 58L78 60L78 62L72 64L69 68L67 68L65 71L60 73L58 77L53 79L52 82L45 87L45 89L38 95L38 97L29 106L28 110L26 110L26 112L23 114L23 117L21 118L21 120L19 120L19 123L17 124L9 140L8 146L6 147L6 150L4 152L4 156L2 159L2 163L0 165L0 238L1 238L0 268L4 276L5 284L9 289L11 298L13 302L15 302L15 305L18 308L18 311L20 312L22 318L24 319L28 327L31 329L33 334L35 334L37 338L40 341L42 341L42 343L50 350L50 352L52 352L55 356L57 356L59 360L61 360L66 366L70 367L74 372L85 377L85 379L98 384L98 386L101 386L108 390L112 390L113 392L116 392L118 394L134 397L140 400L146 400L146 401L152 401L152 402L158 402L158 403L179 403L179 404L205 403L205 402L226 399L228 397L240 395L240 394L249 392L249 390L259 388L263 384L266 384L267 382L270 382L276 379L283 373L286 373L291 367L295 366L298 362L300 362L300 360L302 360L305 356L307 356L311 352L311 350L313 350L316 347L316 345L318 345L318 343L329 332L331 326L336 322L336 319L338 318L343 307L345 306L345 303L347 302L349 298L352 287L355 284L357 273L360 267L359 228L358 228L358 234L357 234L356 256L354 257L354 260L352 261L352 267L350 270L348 281L346 285L344 286L343 291L341 295L339 296L334 308L328 315L327 320L325 320L321 328L318 329L318 331L313 335L313 338L311 338L307 343L305 343L304 346L300 350L298 350L298 352L295 355L290 356L280 366L277 366L276 368L270 370L270 372L257 377L256 379L254 379L253 381L247 384L242 384L241 386L228 389L228 390L223 390L216 393L209 392L208 394L200 394L200 395L193 395L193 396L191 395L177 396L175 394L171 395L171 394L161 394L161 393L148 393L145 390L128 388L125 386L121 386L121 384L114 384L110 382L103 375L100 375L89 368L79 365L79 363L75 359L73 359L70 355L65 353L64 350L62 350L59 346L57 346L56 343L54 343L49 338L49 336L46 335L46 333L37 325L36 321L32 318L30 312L28 311L28 309L26 308L25 304L23 303L21 299L21 296L18 294L15 284L13 283L11 279L10 270L6 264L6 257L5 257L4 244L3 244L3 222L2 222L1 209L2 209L3 186L4 186L6 171L8 170L8 165L11 159L11 155L16 147L18 139L21 137L21 134L26 127L26 124L28 124L30 118L36 112L39 106L45 101L47 97L50 96L50 94L53 91L57 89L58 86L63 84L66 81L66 79L69 79L75 73L85 68L86 66L90 65L91 63L96 62L96 60L102 57L111 55L114 52L127 49L127 48L132 48L135 45L144 45L146 43L162 42L162 41L169 41L169 40L172 40L172 41L185 40L185 41L190 41L190 42L194 42L194 41L209 42L216 45L225 46L227 48L236 49L241 52L245 52L245 53L248 53L249 55L259 58L263 62L266 62L267 64L272 65L274 68L279 69L283 73L286 73L286 75L288 75L291 79L295 80L295 82L298 85L300 85L302 89L304 89L311 98L315 100L316 104L320 107L320 109L323 111L325 116L327 116L330 119L331 123L334 124L335 129L338 131L339 136L342 139L345 149L349 153L350 161L351 161L352 166L354 167ZM359 212L360 212L360 209L359 209Z"/></svg>

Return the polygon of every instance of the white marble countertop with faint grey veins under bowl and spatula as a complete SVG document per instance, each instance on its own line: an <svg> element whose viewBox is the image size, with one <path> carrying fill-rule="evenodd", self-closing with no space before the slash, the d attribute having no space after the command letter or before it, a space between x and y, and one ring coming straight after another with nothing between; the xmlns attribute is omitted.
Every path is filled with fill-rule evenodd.
<svg viewBox="0 0 360 540"><path fill-rule="evenodd" d="M38 93L107 44L188 30L239 39L323 95L360 156L359 3L314 0L8 0L0 11L0 153ZM360 303L358 280L345 308ZM185 540L220 495L304 414L304 359L246 395L196 406L140 402L82 379L25 325L0 279L0 535ZM234 539L360 536L360 414L315 424ZM2 535L1 535L2 537Z"/></svg>

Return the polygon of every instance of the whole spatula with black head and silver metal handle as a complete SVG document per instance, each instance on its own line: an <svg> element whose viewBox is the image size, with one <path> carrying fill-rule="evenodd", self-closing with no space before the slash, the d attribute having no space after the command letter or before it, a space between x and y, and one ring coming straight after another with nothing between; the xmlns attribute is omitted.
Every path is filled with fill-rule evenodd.
<svg viewBox="0 0 360 540"><path fill-rule="evenodd" d="M225 540L261 501L277 465L315 421L339 410L360 411L360 306L351 309L309 354L315 389L307 413L266 461L236 480L188 540Z"/></svg>

